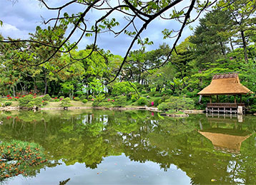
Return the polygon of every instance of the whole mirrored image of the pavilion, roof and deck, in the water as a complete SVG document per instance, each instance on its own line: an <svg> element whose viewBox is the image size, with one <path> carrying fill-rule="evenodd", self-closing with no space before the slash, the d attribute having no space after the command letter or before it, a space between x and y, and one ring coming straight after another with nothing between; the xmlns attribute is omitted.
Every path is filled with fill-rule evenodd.
<svg viewBox="0 0 256 185"><path fill-rule="evenodd" d="M216 150L239 153L242 142L251 136L251 132L237 129L236 123L231 123L235 129L220 128L219 123L223 122L227 124L227 120L229 119L213 118L211 121L215 123L218 122L217 127L212 127L212 122L210 122L211 127L207 129L203 129L200 123L201 130L198 132L209 139Z"/></svg>

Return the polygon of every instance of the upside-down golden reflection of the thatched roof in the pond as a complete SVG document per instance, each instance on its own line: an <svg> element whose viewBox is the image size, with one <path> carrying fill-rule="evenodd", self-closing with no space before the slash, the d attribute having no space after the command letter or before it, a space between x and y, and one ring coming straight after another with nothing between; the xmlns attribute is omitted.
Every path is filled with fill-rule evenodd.
<svg viewBox="0 0 256 185"><path fill-rule="evenodd" d="M248 134L247 136L237 136L213 132L198 132L205 136L207 139L210 139L215 149L231 153L239 153L242 142L252 135Z"/></svg>

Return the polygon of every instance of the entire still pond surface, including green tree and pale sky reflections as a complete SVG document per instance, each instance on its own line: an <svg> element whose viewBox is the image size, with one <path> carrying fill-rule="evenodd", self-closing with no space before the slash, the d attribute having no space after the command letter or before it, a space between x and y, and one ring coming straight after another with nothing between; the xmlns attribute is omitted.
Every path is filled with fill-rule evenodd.
<svg viewBox="0 0 256 185"><path fill-rule="evenodd" d="M0 120L1 142L35 142L48 159L4 184L256 184L253 116L75 110Z"/></svg>

